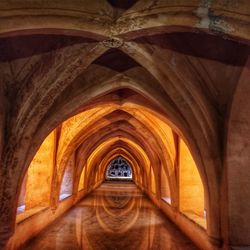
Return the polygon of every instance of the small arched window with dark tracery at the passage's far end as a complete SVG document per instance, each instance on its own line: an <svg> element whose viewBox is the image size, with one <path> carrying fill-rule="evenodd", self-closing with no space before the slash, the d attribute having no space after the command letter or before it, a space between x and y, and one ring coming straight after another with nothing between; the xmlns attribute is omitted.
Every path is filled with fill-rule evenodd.
<svg viewBox="0 0 250 250"><path fill-rule="evenodd" d="M122 157L114 159L108 166L106 179L129 179L132 180L132 169Z"/></svg>

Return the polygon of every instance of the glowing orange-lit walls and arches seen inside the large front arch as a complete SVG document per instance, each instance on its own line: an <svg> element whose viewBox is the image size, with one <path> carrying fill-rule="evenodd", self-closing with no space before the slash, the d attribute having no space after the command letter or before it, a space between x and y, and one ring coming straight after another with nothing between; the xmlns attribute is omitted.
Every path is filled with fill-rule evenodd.
<svg viewBox="0 0 250 250"><path fill-rule="evenodd" d="M100 142L96 136L95 140L90 140L91 143L83 147L84 150L76 151L92 134L112 126L114 118L107 117L114 111L123 111L121 114L124 115L124 119L135 130L132 131L135 134L134 139L127 137L124 130L120 135L111 134ZM142 124L145 126L145 133L141 131ZM138 140L137 133L141 133ZM73 193L81 190L87 192L104 181L108 163L114 157L122 155L132 166L133 179L137 185L153 195L159 191L163 198L172 200L172 196L179 197L179 201L175 200L175 203L179 202L180 211L201 218L204 215L203 184L187 145L180 137L178 138L180 143L177 150L176 138L168 121L162 120L160 115L149 108L132 102L97 105L62 123L56 155L55 133L51 133L45 139L29 167L25 203L28 207L48 206L53 169L59 181L57 188L60 188L63 179L66 178L65 169L71 164L70 159L76 152L82 155L78 156L77 161L73 161L73 165L71 164L74 171L74 175L73 172L71 174L72 188L76 188L75 191L72 190ZM142 139L144 144L141 144ZM179 166L176 162L179 162ZM179 183L175 179L176 168L179 169ZM46 185L41 185L40 181ZM176 185L179 185L180 196L176 194Z"/></svg>

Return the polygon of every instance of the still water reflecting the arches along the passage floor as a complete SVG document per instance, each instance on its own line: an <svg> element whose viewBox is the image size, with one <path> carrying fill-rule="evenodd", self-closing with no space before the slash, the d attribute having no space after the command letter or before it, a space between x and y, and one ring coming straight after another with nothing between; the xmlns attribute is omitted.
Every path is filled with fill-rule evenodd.
<svg viewBox="0 0 250 250"><path fill-rule="evenodd" d="M105 183L23 249L197 249L132 183Z"/></svg>

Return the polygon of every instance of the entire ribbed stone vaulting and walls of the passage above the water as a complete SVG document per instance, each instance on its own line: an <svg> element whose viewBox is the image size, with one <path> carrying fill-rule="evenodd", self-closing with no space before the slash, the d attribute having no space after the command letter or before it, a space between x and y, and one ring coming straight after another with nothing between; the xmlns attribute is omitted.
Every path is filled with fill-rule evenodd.
<svg viewBox="0 0 250 250"><path fill-rule="evenodd" d="M121 156L198 245L250 246L238 225L249 202L236 202L240 183L250 186L249 1L118 2L0 2L0 248L15 240L23 183L48 155L41 202L56 216L66 174L74 203ZM199 181L185 189L190 166ZM181 209L198 185L206 228L194 226L196 237Z"/></svg>

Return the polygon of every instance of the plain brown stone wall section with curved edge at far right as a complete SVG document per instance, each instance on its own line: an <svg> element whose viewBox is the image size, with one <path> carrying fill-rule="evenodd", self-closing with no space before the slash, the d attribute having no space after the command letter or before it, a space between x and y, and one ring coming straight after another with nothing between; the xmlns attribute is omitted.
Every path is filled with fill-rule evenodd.
<svg viewBox="0 0 250 250"><path fill-rule="evenodd" d="M228 242L231 249L250 249L250 58L239 79L228 123ZM223 195L223 194L222 194ZM224 206L225 204L222 204ZM226 224L226 223L225 223ZM225 229L223 229L224 231ZM225 232L223 233L225 234Z"/></svg>

